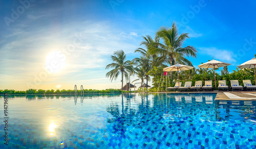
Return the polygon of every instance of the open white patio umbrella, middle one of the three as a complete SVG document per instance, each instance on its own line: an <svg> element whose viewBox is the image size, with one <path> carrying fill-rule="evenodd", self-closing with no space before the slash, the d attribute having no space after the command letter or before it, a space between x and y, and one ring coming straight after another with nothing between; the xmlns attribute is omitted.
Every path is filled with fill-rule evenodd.
<svg viewBox="0 0 256 149"><path fill-rule="evenodd" d="M229 63L224 63L217 60L211 60L209 62L203 63L201 65L198 65L199 68L214 68L214 81L215 81L215 88L216 88L216 78L215 78L215 68L220 68L224 66L231 65Z"/></svg>

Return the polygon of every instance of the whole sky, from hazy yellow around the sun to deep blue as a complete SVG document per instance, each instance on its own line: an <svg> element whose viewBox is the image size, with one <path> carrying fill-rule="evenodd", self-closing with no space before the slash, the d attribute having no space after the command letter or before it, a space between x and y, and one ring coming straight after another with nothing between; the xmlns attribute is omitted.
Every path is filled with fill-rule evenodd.
<svg viewBox="0 0 256 149"><path fill-rule="evenodd" d="M189 33L183 47L198 51L187 58L196 68L214 58L236 70L256 54L255 7L255 1L0 0L0 89L121 88L121 76L105 77L111 55L122 49L126 60L139 57L142 36L154 37L174 21L180 34Z"/></svg>

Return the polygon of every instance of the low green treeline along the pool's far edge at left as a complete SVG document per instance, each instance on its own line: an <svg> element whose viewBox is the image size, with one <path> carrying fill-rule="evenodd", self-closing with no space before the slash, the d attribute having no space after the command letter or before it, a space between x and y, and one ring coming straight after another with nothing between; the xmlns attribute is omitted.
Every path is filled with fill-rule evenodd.
<svg viewBox="0 0 256 149"><path fill-rule="evenodd" d="M84 94L89 94L89 93L122 93L122 92L129 92L129 91L123 91L120 89L105 89L105 90L96 90L96 89L84 89L83 93ZM28 89L26 91L17 91L13 89L5 89L5 90L0 90L0 94L75 94L75 90L59 90L57 89L56 91L51 89L51 90L44 90L44 89ZM81 90L77 90L78 94L81 94Z"/></svg>

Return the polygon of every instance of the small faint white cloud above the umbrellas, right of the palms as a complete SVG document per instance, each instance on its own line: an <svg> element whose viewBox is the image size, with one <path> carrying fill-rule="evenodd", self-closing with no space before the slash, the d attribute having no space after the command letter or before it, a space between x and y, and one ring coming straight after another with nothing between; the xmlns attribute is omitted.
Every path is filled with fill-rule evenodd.
<svg viewBox="0 0 256 149"><path fill-rule="evenodd" d="M199 47L201 54L206 54L214 57L215 60L220 60L223 62L236 62L233 58L233 52L226 49L217 49L216 47Z"/></svg>

